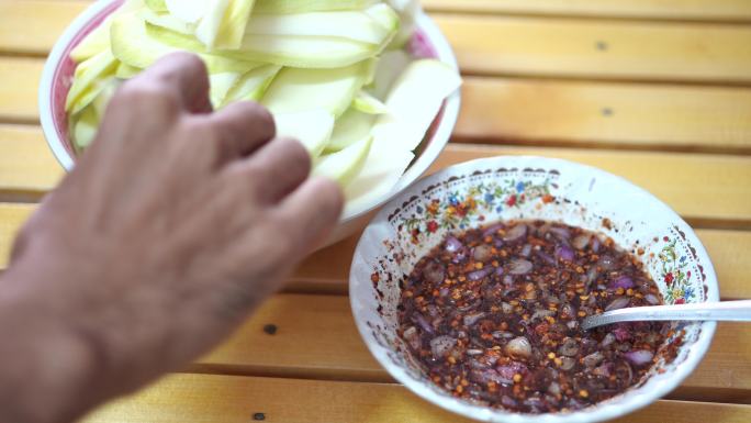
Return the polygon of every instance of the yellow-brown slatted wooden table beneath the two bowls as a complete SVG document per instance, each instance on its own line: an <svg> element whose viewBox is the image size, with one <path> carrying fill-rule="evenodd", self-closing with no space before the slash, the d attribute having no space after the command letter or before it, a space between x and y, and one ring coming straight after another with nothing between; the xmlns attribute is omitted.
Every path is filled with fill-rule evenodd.
<svg viewBox="0 0 751 423"><path fill-rule="evenodd" d="M63 176L36 88L46 53L88 3L0 0L0 268ZM751 1L424 3L466 76L453 143L434 169L536 154L624 176L696 227L722 299L751 298ZM461 421L394 383L360 341L346 297L356 240L309 258L214 353L87 421ZM620 421L748 423L749 404L751 325L720 324L681 388Z"/></svg>

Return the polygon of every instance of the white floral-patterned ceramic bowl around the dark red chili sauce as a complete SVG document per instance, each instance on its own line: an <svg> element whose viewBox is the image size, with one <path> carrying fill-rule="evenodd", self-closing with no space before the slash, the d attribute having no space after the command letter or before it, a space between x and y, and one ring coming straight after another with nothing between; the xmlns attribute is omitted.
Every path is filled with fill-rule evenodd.
<svg viewBox="0 0 751 423"><path fill-rule="evenodd" d="M642 189L596 168L559 159L469 162L404 190L379 212L355 252L349 285L352 313L368 348L391 376L434 404L479 421L585 423L640 409L694 370L709 347L714 322L682 323L685 335L674 361L661 359L641 385L576 412L533 415L495 410L456 399L427 380L396 334L400 277L447 233L511 219L563 222L604 233L629 249L643 248L640 257L665 303L719 299L717 278L699 240L675 212ZM610 229L604 227L604 219L609 219ZM373 274L379 275L377 283Z"/></svg>

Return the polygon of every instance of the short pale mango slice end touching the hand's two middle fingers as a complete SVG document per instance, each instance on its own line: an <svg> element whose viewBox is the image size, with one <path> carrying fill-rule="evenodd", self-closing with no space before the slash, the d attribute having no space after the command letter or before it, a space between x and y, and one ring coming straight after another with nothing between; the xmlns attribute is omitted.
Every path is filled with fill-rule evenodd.
<svg viewBox="0 0 751 423"><path fill-rule="evenodd" d="M325 110L274 113L277 135L299 140L316 158L321 155L334 130L334 116Z"/></svg>

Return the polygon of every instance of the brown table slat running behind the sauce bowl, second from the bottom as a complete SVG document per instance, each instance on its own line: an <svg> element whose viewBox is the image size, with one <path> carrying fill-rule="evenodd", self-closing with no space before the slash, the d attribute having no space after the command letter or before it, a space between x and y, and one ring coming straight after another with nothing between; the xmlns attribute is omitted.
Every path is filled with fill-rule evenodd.
<svg viewBox="0 0 751 423"><path fill-rule="evenodd" d="M276 324L276 335L264 332ZM193 370L316 379L390 381L362 343L346 297L280 294ZM751 403L751 326L721 323L707 356L682 389L731 392ZM740 394L738 394L740 392ZM681 398L676 392L674 398ZM714 396L714 398L717 398Z"/></svg>

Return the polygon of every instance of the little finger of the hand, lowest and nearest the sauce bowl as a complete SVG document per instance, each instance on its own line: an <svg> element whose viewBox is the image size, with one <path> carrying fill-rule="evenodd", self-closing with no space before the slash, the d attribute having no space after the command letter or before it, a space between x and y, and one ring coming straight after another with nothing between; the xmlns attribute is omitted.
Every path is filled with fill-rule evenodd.
<svg viewBox="0 0 751 423"><path fill-rule="evenodd" d="M344 194L336 182L311 178L279 205L279 218L295 248L306 254L336 226L343 207Z"/></svg>

